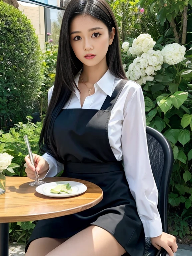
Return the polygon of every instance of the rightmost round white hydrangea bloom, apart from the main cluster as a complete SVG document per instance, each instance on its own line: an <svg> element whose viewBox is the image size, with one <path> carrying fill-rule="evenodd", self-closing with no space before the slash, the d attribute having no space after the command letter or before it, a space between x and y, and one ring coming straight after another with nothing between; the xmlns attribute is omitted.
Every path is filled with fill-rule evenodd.
<svg viewBox="0 0 192 256"><path fill-rule="evenodd" d="M167 44L161 50L164 62L169 65L174 65L184 60L186 48L178 43Z"/></svg>

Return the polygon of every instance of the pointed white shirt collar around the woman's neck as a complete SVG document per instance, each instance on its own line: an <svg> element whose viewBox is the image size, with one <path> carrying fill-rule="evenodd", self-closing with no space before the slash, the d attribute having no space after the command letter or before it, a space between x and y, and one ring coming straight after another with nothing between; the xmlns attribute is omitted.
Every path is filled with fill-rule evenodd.
<svg viewBox="0 0 192 256"><path fill-rule="evenodd" d="M78 72L75 76L74 81L78 86L79 77L81 74L82 69ZM96 83L107 95L111 97L113 92L113 85L115 81L115 76L111 73L108 69L106 73L101 77L101 79ZM77 90L77 89L76 89Z"/></svg>

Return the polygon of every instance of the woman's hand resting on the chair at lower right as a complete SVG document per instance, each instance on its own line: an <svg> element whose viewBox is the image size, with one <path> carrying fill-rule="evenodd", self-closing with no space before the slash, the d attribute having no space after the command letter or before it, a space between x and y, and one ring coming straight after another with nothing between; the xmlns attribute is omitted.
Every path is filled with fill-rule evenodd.
<svg viewBox="0 0 192 256"><path fill-rule="evenodd" d="M169 256L174 256L174 252L177 251L177 243L176 238L170 234L162 233L160 236L157 237L151 237L150 238L151 243L154 247L156 247L158 250L164 248Z"/></svg>

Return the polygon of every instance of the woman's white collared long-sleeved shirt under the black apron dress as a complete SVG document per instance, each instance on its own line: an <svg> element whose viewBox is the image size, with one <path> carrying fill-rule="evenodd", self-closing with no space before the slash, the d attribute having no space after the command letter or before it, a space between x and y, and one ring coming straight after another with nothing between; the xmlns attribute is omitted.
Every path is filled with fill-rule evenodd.
<svg viewBox="0 0 192 256"><path fill-rule="evenodd" d="M81 71L75 77L76 85ZM108 69L94 84L95 93L85 99L82 108L100 109L107 95L112 95L120 80ZM52 90L53 86L49 89L48 103ZM72 92L64 108L81 108L80 93L77 89ZM151 170L146 138L144 96L141 86L137 83L128 81L121 91L111 111L108 136L116 159L123 159L126 179L136 201L145 236L161 235L162 223L157 209L158 190ZM52 156L45 153L43 157L50 166L47 177L53 177L63 170L63 165Z"/></svg>

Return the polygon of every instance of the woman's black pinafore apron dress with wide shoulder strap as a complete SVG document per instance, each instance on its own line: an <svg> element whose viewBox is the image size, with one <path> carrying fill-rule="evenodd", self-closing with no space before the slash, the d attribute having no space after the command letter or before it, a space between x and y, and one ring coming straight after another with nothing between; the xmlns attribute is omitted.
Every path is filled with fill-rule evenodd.
<svg viewBox="0 0 192 256"><path fill-rule="evenodd" d="M112 96L106 97L101 110L62 109L57 116L53 136L59 160L64 163L62 176L97 184L103 190L103 200L79 213L39 220L26 250L34 239L68 238L89 225L96 225L115 237L126 250L125 255L143 256L143 225L122 161L116 160L108 138L111 110L126 82L119 82Z"/></svg>

